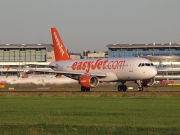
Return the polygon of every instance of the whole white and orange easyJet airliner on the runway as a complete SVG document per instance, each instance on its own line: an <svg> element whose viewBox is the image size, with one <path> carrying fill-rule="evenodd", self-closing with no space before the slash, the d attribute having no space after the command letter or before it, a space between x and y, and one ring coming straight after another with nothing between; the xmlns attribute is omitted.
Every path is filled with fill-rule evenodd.
<svg viewBox="0 0 180 135"><path fill-rule="evenodd" d="M126 81L138 84L138 91L152 86L157 69L145 58L71 59L56 28L51 28L55 62L49 67L66 77L78 80L82 92L89 92L102 82L121 82L118 91L126 91Z"/></svg>

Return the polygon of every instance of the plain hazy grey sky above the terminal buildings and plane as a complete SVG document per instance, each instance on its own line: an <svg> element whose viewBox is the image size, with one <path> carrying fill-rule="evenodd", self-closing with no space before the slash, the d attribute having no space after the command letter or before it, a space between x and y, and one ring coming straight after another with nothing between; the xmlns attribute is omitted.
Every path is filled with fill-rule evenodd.
<svg viewBox="0 0 180 135"><path fill-rule="evenodd" d="M180 0L0 0L0 44L107 51L108 44L180 42Z"/></svg>

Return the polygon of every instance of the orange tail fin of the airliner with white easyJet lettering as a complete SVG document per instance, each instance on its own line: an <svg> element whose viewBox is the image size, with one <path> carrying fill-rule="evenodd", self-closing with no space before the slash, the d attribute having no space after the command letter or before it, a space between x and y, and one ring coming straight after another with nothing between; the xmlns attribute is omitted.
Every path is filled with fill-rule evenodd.
<svg viewBox="0 0 180 135"><path fill-rule="evenodd" d="M61 37L57 31L56 28L51 28L51 34L52 34L52 41L53 41L53 47L54 47L54 55L55 60L70 60L66 48L64 47L64 44L61 40Z"/></svg>

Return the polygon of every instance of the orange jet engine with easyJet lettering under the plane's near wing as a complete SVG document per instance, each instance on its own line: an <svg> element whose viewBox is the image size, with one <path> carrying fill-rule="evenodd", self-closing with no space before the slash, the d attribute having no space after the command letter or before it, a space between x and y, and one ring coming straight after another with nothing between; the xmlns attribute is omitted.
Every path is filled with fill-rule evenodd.
<svg viewBox="0 0 180 135"><path fill-rule="evenodd" d="M99 84L99 80L96 76L82 76L79 83L86 88L94 88Z"/></svg>

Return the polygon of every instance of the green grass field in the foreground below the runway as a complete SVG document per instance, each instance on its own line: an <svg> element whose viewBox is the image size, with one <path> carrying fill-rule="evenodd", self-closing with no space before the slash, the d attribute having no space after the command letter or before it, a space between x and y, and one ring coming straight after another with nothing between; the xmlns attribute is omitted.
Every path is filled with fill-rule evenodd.
<svg viewBox="0 0 180 135"><path fill-rule="evenodd" d="M179 134L180 95L0 95L0 133Z"/></svg>

